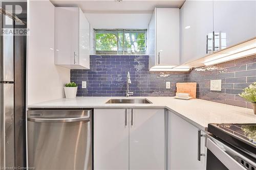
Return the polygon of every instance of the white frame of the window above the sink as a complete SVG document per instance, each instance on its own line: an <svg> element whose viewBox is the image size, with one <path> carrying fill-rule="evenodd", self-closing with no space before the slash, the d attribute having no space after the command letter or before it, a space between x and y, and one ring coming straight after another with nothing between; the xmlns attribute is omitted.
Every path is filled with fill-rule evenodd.
<svg viewBox="0 0 256 170"><path fill-rule="evenodd" d="M146 55L147 54L147 29L93 29L94 31L94 37L93 37L93 41L94 41L94 54L95 55ZM123 32L123 35L125 32L142 32L145 33L145 51L144 53L138 54L127 54L127 52L125 52L122 48L122 52L121 54L118 53L118 41L119 41L119 36L117 36L117 51L96 51L96 33L116 33L118 35L118 33ZM122 39L122 44L124 44L124 36Z"/></svg>

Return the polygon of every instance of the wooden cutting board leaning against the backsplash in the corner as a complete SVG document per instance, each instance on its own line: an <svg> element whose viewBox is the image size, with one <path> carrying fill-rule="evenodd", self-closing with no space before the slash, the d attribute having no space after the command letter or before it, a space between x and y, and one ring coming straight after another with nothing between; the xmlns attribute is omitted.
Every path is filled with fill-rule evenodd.
<svg viewBox="0 0 256 170"><path fill-rule="evenodd" d="M177 93L189 93L190 97L196 99L197 83L176 83Z"/></svg>

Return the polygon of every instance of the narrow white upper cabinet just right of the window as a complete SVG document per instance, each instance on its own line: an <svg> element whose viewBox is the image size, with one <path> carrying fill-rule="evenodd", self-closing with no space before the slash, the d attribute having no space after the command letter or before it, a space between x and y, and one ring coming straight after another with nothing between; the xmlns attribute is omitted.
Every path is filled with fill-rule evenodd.
<svg viewBox="0 0 256 170"><path fill-rule="evenodd" d="M148 25L150 68L179 65L179 9L155 8Z"/></svg>

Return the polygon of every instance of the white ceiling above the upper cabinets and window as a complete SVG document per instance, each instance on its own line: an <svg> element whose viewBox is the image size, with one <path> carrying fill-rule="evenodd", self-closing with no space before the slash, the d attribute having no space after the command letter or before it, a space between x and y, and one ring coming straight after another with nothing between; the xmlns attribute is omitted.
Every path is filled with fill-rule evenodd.
<svg viewBox="0 0 256 170"><path fill-rule="evenodd" d="M84 13L152 13L155 7L180 8L184 0L51 0L59 7L80 7Z"/></svg>

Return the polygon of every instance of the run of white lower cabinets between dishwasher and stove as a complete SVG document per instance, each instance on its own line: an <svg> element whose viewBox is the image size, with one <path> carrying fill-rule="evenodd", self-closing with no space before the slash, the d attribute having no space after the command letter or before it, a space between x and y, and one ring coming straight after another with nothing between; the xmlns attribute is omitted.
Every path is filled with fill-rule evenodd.
<svg viewBox="0 0 256 170"><path fill-rule="evenodd" d="M164 109L94 109L94 169L206 169L204 135Z"/></svg>

